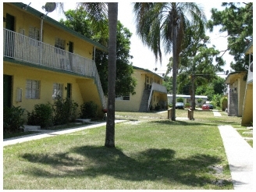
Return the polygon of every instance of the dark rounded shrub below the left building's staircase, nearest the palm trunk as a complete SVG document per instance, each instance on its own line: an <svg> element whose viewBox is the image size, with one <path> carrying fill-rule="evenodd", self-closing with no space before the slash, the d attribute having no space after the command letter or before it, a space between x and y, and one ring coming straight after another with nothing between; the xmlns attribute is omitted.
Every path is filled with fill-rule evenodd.
<svg viewBox="0 0 256 192"><path fill-rule="evenodd" d="M94 101L84 102L80 105L80 118L96 118L98 116L98 105Z"/></svg>

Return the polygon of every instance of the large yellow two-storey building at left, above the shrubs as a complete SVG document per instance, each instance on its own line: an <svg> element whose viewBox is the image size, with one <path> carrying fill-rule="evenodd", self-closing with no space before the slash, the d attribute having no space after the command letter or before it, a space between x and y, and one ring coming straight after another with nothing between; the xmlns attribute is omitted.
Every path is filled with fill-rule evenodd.
<svg viewBox="0 0 256 192"><path fill-rule="evenodd" d="M23 3L3 3L3 104L31 112L59 95L105 105L94 50L107 48Z"/></svg>

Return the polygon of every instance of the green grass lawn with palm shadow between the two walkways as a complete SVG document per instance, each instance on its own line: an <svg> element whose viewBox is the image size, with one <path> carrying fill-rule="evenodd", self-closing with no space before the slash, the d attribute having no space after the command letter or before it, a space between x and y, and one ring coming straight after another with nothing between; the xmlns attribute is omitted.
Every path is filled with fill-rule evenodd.
<svg viewBox="0 0 256 192"><path fill-rule="evenodd" d="M186 117L187 110L176 110ZM105 148L105 126L5 146L5 190L230 190L219 125L240 119L194 112L116 112L116 148Z"/></svg>

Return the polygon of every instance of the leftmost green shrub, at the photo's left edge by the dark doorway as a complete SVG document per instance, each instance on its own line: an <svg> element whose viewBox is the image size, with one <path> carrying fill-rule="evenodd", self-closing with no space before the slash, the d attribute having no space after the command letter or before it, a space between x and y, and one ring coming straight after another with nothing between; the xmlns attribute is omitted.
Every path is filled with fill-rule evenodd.
<svg viewBox="0 0 256 192"><path fill-rule="evenodd" d="M5 133L19 132L20 127L24 127L23 113L24 108L14 107L4 107L3 108L3 130Z"/></svg>

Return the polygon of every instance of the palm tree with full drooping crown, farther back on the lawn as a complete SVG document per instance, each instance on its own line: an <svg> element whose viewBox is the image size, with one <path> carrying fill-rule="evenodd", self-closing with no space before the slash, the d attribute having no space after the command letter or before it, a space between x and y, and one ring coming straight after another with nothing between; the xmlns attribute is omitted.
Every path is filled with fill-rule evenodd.
<svg viewBox="0 0 256 192"><path fill-rule="evenodd" d="M197 26L197 33L204 33L206 18L194 2L136 2L133 6L136 16L137 34L162 62L162 45L165 53L172 52L172 106L176 104L176 79L178 60L183 49L186 29ZM162 43L162 44L161 44ZM172 107L172 120L176 110Z"/></svg>

